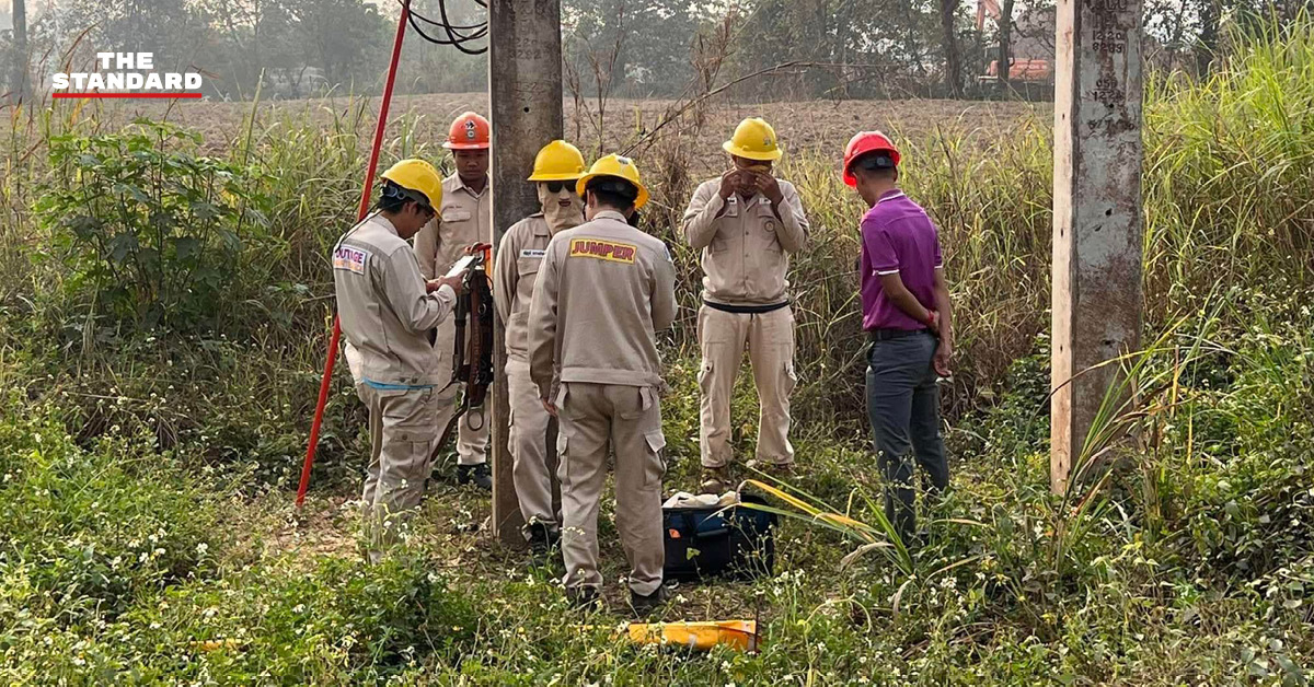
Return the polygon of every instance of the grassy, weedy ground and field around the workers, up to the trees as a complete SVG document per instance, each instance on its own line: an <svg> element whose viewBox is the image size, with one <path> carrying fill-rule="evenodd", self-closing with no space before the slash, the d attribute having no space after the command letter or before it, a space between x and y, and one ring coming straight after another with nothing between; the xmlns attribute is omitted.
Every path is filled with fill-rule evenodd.
<svg viewBox="0 0 1314 687"><path fill-rule="evenodd" d="M364 565L351 499L367 437L344 372L314 489L293 510L332 306L325 255L351 223L372 101L11 113L0 680L1307 684L1311 75L1306 22L1243 45L1209 81L1151 84L1146 351L1126 363L1133 402L1088 447L1102 469L1068 498L1047 489L1047 106L715 104L644 141L669 104L641 104L637 118L633 104L608 105L612 144L644 141L636 155L658 210L645 226L671 243L679 269L682 318L662 338L668 487L692 485L698 435L699 275L674 215L721 164L719 143L740 117L775 121L788 151L781 173L813 222L791 273L792 487L857 524L786 519L774 577L685 585L665 615L759 617L754 655L611 638L624 616L610 524L612 611L582 617L551 570L490 541L487 499L444 479L407 544ZM388 159L440 159L447 121L480 109L474 100L399 100L407 114ZM135 114L183 129L129 125ZM883 539L872 535L882 485L861 410L861 208L836 158L872 126L896 133L907 190L941 226L959 322L945 394L953 489L916 554L865 548ZM746 453L746 380L735 419ZM608 521L611 503L603 510Z"/></svg>

